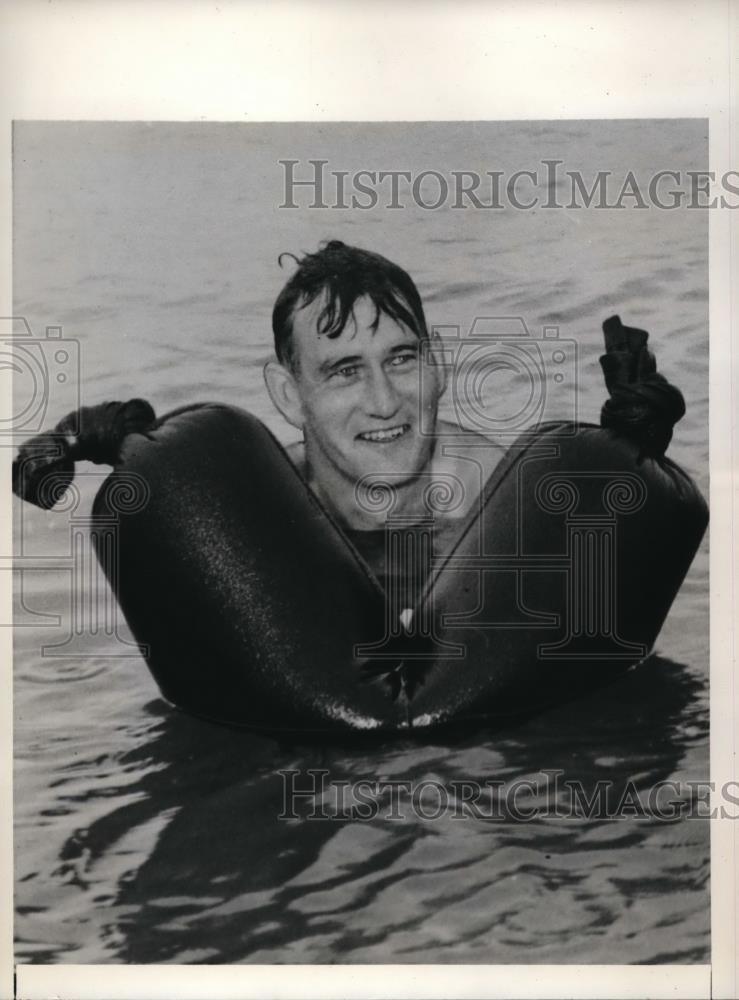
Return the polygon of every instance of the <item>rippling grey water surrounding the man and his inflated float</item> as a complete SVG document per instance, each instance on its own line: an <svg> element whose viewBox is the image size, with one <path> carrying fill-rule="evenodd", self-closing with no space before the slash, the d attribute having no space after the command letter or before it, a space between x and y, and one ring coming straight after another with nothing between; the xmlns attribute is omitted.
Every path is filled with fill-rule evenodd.
<svg viewBox="0 0 739 1000"><path fill-rule="evenodd" d="M281 158L331 169L700 169L696 122L497 126L22 125L15 312L79 342L83 402L252 409L283 250L375 249L417 280L432 323L520 315L579 350L552 416L597 420L600 323L652 331L688 412L670 456L708 489L707 219L696 211L278 210ZM522 391L507 385L508 397ZM25 391L19 383L19 392ZM55 391L45 423L74 404ZM447 406L447 410L451 405ZM445 415L450 415L449 413ZM16 551L69 555L76 511L16 502ZM26 565L29 565L26 563ZM541 778L646 791L708 777L708 559L696 557L658 655L616 685L491 730L302 745L191 719L136 655L59 658L69 570L26 569L15 651L16 952L21 962L705 962L705 820L279 819L280 770L341 781ZM48 616L48 617L44 617ZM183 628L187 626L183 622ZM122 647L116 647L121 652ZM130 651L130 650L129 650ZM58 650L56 650L58 652ZM452 803L453 805L453 803Z"/></svg>

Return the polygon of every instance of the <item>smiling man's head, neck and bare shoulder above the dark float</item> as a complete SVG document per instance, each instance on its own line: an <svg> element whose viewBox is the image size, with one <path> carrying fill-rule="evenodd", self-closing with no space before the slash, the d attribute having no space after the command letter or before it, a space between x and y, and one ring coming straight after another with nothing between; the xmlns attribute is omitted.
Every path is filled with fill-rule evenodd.
<svg viewBox="0 0 739 1000"><path fill-rule="evenodd" d="M447 372L401 267L331 241L298 261L272 326L277 361L265 366L267 389L303 433L290 456L343 527L379 527L387 515L372 502L379 483L392 491L393 516L427 517L430 488L450 482L463 493L456 517L468 512L500 451L438 419ZM476 442L474 460L450 454L442 433Z"/></svg>

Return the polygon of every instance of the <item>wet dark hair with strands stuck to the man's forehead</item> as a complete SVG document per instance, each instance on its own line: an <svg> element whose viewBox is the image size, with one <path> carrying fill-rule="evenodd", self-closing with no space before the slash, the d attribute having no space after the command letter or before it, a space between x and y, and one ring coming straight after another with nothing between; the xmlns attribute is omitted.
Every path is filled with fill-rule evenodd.
<svg viewBox="0 0 739 1000"><path fill-rule="evenodd" d="M380 313L412 330L419 340L428 338L421 296L402 267L370 250L350 247L339 240L324 243L316 253L298 258L298 267L272 311L272 331L278 361L295 370L293 317L325 293L326 304L318 317L318 332L338 337L353 314L357 299L370 298L375 306L373 329Z"/></svg>

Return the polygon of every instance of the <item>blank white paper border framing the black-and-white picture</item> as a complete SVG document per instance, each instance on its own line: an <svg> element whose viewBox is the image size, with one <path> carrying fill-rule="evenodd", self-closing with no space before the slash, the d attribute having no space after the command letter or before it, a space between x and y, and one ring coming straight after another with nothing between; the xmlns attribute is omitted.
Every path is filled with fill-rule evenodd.
<svg viewBox="0 0 739 1000"><path fill-rule="evenodd" d="M707 118L739 163L736 0L0 0L0 315L12 314L11 122ZM458 54L464 53L459 59ZM734 131L732 131L732 120ZM732 266L739 213L710 214L711 779L737 778L739 597ZM732 336L733 333L733 336ZM10 400L0 399L0 416ZM733 421L732 421L733 415ZM10 452L0 453L10 542ZM11 574L0 573L9 614ZM9 620L9 617L3 619ZM11 801L12 635L0 629L0 796ZM19 965L12 814L0 830L0 996L735 997L737 828L712 821L710 966Z"/></svg>

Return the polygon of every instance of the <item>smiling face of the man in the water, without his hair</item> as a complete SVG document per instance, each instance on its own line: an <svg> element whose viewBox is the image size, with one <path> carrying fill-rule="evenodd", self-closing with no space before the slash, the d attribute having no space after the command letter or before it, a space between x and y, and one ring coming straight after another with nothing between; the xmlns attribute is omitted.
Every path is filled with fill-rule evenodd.
<svg viewBox="0 0 739 1000"><path fill-rule="evenodd" d="M399 486L430 460L442 370L423 361L412 330L384 313L373 329L370 299L356 302L338 337L319 335L322 306L313 302L293 318L294 380L312 474L319 483L353 487L377 473Z"/></svg>

